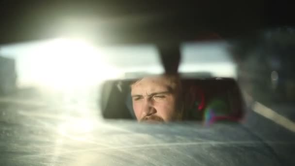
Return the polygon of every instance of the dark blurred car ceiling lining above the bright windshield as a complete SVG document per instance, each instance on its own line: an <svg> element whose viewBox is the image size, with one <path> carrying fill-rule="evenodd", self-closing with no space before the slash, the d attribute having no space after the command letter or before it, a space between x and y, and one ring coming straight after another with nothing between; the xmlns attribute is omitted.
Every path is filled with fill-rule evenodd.
<svg viewBox="0 0 295 166"><path fill-rule="evenodd" d="M235 38L289 25L292 15L285 10L287 6L283 2L236 0L6 0L0 3L0 44L67 34L99 44L179 43L207 32Z"/></svg>

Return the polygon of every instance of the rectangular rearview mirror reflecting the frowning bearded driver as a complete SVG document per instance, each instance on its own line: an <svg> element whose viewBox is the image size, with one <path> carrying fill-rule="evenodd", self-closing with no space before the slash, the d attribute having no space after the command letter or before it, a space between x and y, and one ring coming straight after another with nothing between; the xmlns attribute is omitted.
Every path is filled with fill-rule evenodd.
<svg viewBox="0 0 295 166"><path fill-rule="evenodd" d="M245 104L231 78L152 76L103 83L99 106L104 118L150 120L239 121ZM151 117L151 118L149 118Z"/></svg>

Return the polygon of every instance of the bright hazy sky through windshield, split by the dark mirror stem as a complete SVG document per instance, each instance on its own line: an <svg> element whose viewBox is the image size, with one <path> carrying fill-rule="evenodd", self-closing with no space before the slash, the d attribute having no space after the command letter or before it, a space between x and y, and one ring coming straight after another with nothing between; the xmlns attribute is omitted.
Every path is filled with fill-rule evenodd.
<svg viewBox="0 0 295 166"><path fill-rule="evenodd" d="M180 72L210 72L236 77L226 43L184 43ZM16 60L17 84L84 86L125 72L163 73L156 46L99 47L80 39L56 38L0 46L0 56Z"/></svg>

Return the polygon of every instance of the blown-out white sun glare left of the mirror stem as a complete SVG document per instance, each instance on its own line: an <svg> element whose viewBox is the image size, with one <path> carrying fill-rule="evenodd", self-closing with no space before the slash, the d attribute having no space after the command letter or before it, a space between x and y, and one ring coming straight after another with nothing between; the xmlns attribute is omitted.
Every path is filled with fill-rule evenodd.
<svg viewBox="0 0 295 166"><path fill-rule="evenodd" d="M114 67L103 62L100 52L79 39L59 38L40 45L35 55L35 82L65 89L92 85L117 76Z"/></svg>

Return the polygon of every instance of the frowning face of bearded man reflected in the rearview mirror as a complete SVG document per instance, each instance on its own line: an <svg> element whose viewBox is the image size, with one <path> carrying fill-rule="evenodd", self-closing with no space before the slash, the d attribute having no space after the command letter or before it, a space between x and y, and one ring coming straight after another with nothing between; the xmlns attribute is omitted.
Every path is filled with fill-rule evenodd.
<svg viewBox="0 0 295 166"><path fill-rule="evenodd" d="M180 81L176 76L146 77L131 84L132 106L139 122L180 120Z"/></svg>

